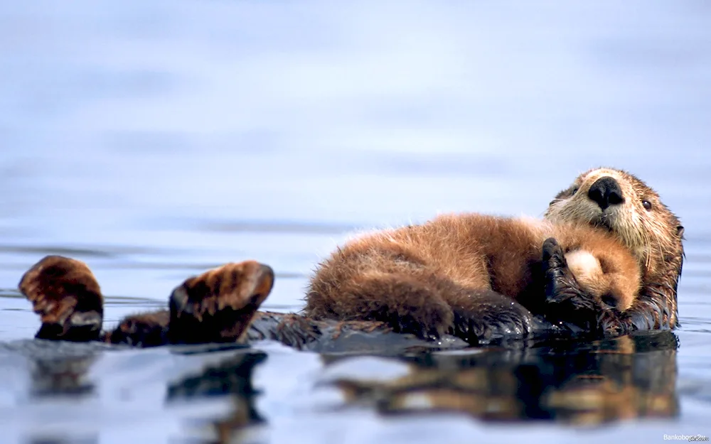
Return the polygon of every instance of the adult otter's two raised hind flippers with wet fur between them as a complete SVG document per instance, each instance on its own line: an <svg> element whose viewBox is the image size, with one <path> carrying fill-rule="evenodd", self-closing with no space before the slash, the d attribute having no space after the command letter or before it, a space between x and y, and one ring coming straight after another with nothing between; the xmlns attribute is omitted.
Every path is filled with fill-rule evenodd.
<svg viewBox="0 0 711 444"><path fill-rule="evenodd" d="M127 316L101 338L144 347L240 342L273 284L274 272L269 266L256 261L225 264L184 281L173 291L169 310ZM38 338L100 338L103 297L96 278L83 262L47 256L23 276L19 288L42 315ZM77 319L87 318L87 313L92 313L90 329L85 323L77 323Z"/></svg>

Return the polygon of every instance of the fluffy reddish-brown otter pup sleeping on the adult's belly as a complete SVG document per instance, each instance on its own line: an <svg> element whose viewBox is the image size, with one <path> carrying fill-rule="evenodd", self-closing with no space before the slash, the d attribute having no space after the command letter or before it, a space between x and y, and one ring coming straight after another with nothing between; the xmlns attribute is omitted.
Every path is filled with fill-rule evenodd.
<svg viewBox="0 0 711 444"><path fill-rule="evenodd" d="M482 291L542 312L541 250L549 237L566 253L587 251L597 259L594 276L577 270L584 291L601 305L611 300L617 310L629 308L639 286L638 264L608 234L583 225L469 214L348 242L319 266L304 313L316 319L379 320L395 331L437 337L456 332L461 313L482 312Z"/></svg>

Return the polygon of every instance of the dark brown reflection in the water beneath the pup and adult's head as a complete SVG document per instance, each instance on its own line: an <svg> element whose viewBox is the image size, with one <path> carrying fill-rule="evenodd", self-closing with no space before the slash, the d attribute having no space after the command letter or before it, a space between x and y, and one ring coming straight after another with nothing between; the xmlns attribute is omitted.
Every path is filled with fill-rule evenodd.
<svg viewBox="0 0 711 444"><path fill-rule="evenodd" d="M600 424L679 412L677 337L669 331L519 350L423 354L390 381L336 379L346 404L380 413L458 411L486 421ZM328 361L342 357L326 358Z"/></svg>

